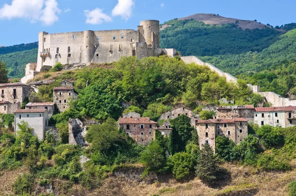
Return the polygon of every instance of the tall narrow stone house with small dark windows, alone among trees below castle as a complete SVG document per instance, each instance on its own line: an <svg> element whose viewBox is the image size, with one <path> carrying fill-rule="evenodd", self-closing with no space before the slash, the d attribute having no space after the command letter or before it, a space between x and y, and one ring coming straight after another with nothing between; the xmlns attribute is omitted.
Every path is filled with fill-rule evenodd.
<svg viewBox="0 0 296 196"><path fill-rule="evenodd" d="M59 112L64 112L69 107L69 102L74 100L77 95L73 87L54 87L53 102L57 105Z"/></svg>

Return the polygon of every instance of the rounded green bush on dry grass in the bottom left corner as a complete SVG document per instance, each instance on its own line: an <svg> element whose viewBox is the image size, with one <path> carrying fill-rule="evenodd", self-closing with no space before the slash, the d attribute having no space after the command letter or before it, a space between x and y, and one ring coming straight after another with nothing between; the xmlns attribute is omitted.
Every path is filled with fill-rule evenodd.
<svg viewBox="0 0 296 196"><path fill-rule="evenodd" d="M34 181L34 177L30 174L24 173L22 176L19 175L12 184L13 192L16 195L31 194Z"/></svg>

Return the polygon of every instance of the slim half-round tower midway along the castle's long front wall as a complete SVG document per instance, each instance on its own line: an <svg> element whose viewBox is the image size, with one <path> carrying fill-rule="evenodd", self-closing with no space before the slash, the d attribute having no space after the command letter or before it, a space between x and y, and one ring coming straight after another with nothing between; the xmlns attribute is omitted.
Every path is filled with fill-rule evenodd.
<svg viewBox="0 0 296 196"><path fill-rule="evenodd" d="M84 31L84 62L91 63L94 56L94 32Z"/></svg>

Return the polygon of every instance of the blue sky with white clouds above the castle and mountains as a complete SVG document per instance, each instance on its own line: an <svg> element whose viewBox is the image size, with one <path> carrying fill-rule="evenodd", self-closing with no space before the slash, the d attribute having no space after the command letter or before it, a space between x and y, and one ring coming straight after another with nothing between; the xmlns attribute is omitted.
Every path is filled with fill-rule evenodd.
<svg viewBox="0 0 296 196"><path fill-rule="evenodd" d="M141 20L165 21L195 13L296 22L296 0L0 0L0 45L38 41L38 32L137 29Z"/></svg>

